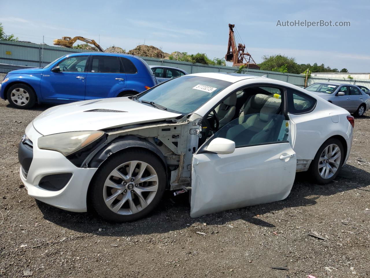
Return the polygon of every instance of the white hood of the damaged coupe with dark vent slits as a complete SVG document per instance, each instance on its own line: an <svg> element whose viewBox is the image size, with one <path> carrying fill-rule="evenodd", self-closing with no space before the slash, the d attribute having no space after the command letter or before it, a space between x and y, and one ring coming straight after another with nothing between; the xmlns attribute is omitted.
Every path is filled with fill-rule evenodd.
<svg viewBox="0 0 370 278"><path fill-rule="evenodd" d="M145 105L128 97L85 100L51 107L33 120L42 135L101 130L137 123L173 119L181 114Z"/></svg>

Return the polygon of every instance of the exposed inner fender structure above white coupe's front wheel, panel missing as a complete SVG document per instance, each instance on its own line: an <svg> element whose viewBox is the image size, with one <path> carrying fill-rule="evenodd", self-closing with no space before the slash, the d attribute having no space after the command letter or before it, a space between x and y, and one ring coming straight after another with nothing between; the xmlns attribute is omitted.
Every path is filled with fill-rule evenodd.
<svg viewBox="0 0 370 278"><path fill-rule="evenodd" d="M191 159L198 149L199 125L186 117L172 122L148 123L106 130L107 142L88 163L98 168L110 155L137 147L155 153L169 173L169 189L181 189L190 184Z"/></svg>

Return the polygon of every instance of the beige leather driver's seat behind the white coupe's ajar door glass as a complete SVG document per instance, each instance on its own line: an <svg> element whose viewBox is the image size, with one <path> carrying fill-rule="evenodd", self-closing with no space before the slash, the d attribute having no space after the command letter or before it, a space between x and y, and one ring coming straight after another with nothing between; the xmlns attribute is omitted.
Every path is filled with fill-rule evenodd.
<svg viewBox="0 0 370 278"><path fill-rule="evenodd" d="M239 146L268 142L272 132L276 131L276 128L281 128L281 123L279 127L273 128L275 125L273 115L279 110L280 105L281 99L269 97L259 113L241 116L239 125L230 128L226 138Z"/></svg>

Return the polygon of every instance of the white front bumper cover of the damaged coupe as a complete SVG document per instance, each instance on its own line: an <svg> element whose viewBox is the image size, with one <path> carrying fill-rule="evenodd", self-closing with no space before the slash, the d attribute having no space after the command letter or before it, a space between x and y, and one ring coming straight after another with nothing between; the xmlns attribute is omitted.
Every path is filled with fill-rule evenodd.
<svg viewBox="0 0 370 278"><path fill-rule="evenodd" d="M37 140L42 135L33 128L32 123L27 126L26 135L33 142L33 157L28 171L21 166L19 175L28 195L67 211L87 211L87 189L97 168L78 168L60 152L39 149ZM62 189L52 191L40 187L40 181L45 176L62 173L72 174Z"/></svg>

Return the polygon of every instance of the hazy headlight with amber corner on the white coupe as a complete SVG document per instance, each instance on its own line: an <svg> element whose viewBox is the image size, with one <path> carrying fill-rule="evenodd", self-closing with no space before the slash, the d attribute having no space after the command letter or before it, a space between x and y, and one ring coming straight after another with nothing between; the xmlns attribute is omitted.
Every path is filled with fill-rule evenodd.
<svg viewBox="0 0 370 278"><path fill-rule="evenodd" d="M46 135L40 137L37 146L40 149L56 150L64 156L77 152L103 136L103 131L76 131Z"/></svg>

